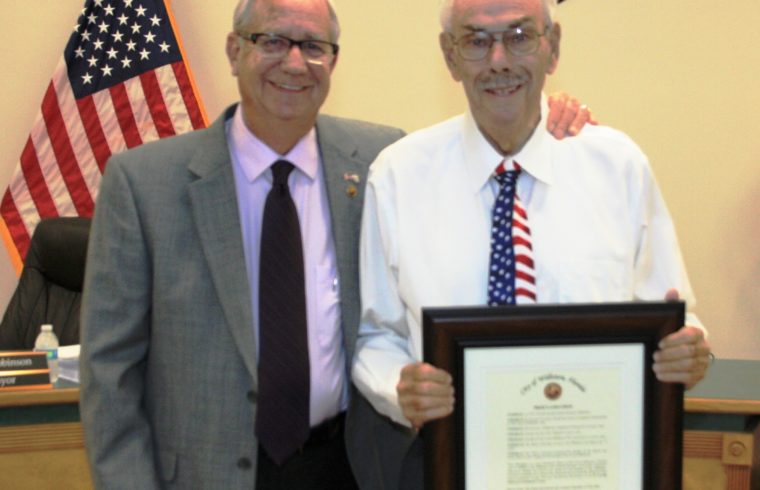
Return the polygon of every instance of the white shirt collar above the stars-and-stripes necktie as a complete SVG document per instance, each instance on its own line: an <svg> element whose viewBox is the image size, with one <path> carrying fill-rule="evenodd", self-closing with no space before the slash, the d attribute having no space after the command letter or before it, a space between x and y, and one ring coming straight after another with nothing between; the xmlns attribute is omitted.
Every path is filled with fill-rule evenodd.
<svg viewBox="0 0 760 490"><path fill-rule="evenodd" d="M542 97L541 121L522 149L515 155L507 156L507 158L518 162L524 172L529 173L537 180L551 185L554 181L551 160L553 137L544 128L548 110L546 98ZM477 193L483 189L483 186L487 185L494 169L504 159L504 156L496 151L483 136L469 110L464 117L462 132L470 186L473 192Z"/></svg>

